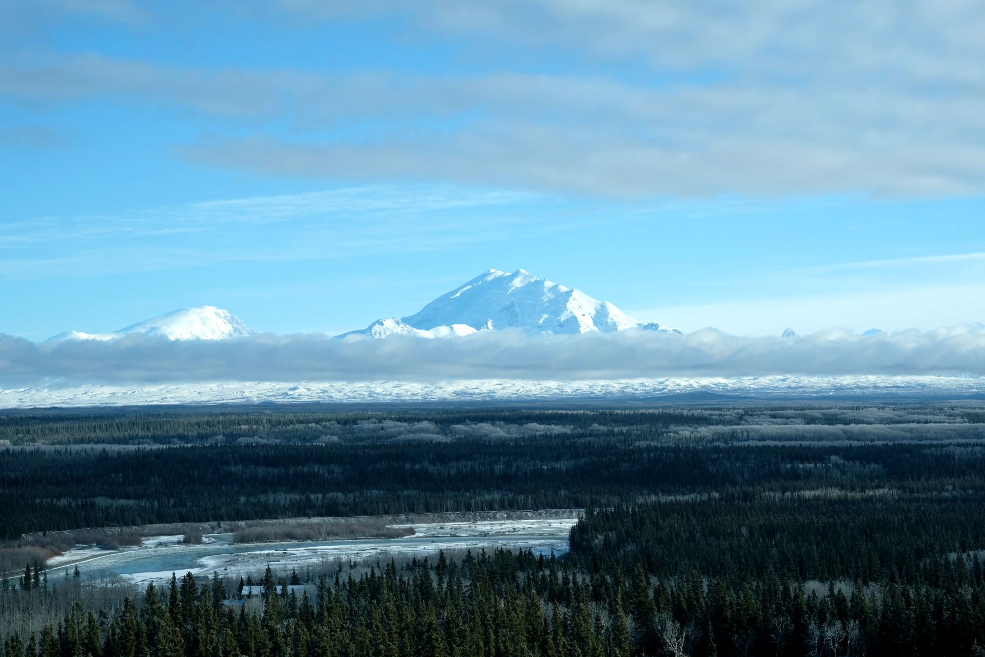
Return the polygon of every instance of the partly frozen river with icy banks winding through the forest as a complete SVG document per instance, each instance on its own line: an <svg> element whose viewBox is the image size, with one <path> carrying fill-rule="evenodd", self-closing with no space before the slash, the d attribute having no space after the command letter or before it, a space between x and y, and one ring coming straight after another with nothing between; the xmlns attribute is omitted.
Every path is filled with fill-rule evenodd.
<svg viewBox="0 0 985 657"><path fill-rule="evenodd" d="M237 544L231 534L211 534L202 545L183 545L180 536L157 536L143 545L116 551L80 547L48 561L53 575L76 565L84 580L123 577L134 583L170 579L191 571L196 575L213 571L224 576L256 575L270 565L275 571L298 572L307 567L330 565L337 560L364 561L376 558L427 556L440 550L465 552L507 548L533 550L550 555L567 551L567 534L573 518L536 520L489 520L444 522L413 526L416 534L399 539L353 539L344 541L291 541Z"/></svg>

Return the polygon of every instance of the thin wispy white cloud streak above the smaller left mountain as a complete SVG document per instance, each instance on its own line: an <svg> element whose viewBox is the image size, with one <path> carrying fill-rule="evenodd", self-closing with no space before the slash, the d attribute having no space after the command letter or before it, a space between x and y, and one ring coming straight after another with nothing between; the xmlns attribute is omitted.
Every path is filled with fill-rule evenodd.
<svg viewBox="0 0 985 657"><path fill-rule="evenodd" d="M4 225L0 277L32 280L440 251L508 239L521 229L571 227L547 218L543 207L531 209L536 200L529 193L479 187L388 185L41 217ZM461 219L463 211L469 212L468 222Z"/></svg>

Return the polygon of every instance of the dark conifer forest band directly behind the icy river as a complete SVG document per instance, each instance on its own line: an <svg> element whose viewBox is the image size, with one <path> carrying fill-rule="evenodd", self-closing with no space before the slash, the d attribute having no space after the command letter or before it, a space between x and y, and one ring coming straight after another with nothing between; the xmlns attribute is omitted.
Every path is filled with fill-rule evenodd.
<svg viewBox="0 0 985 657"><path fill-rule="evenodd" d="M0 538L214 520L612 507L763 491L960 497L985 491L985 447L687 446L553 435L0 449Z"/></svg>

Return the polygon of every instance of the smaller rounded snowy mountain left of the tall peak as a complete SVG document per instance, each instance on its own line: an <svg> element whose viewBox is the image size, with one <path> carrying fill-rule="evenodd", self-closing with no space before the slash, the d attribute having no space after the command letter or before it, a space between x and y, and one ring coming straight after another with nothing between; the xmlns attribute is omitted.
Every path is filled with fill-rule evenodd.
<svg viewBox="0 0 985 657"><path fill-rule="evenodd" d="M161 336L168 340L224 340L251 335L256 331L243 324L242 320L229 310L217 308L214 305L202 305L197 308L172 310L110 333L66 331L49 338L47 342L116 340L135 333Z"/></svg>

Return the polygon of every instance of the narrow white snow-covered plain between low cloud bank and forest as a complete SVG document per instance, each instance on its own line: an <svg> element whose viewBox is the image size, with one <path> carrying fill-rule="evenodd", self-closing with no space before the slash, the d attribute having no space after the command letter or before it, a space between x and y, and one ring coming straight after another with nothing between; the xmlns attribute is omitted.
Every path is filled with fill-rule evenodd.
<svg viewBox="0 0 985 657"><path fill-rule="evenodd" d="M661 398L695 400L799 398L983 398L979 376L749 376L674 377L584 381L457 379L408 381L322 381L283 383L223 381L162 385L35 386L0 389L0 409L142 406L168 404L551 402Z"/></svg>

